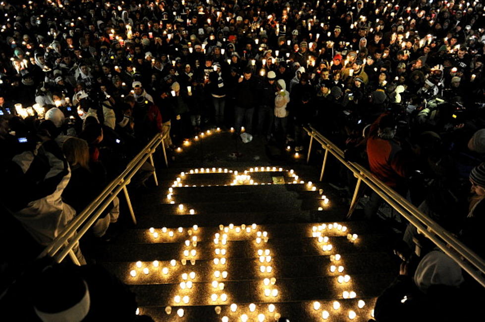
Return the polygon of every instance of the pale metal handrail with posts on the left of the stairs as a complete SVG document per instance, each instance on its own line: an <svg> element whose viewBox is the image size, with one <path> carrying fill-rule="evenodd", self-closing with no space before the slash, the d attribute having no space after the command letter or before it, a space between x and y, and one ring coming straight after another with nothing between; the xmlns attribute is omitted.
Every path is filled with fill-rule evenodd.
<svg viewBox="0 0 485 322"><path fill-rule="evenodd" d="M136 224L136 217L131 205L130 196L126 186L130 183L131 178L138 172L142 165L150 159L150 163L155 169L153 153L159 145L162 144L163 157L165 165L168 166L167 156L164 146L165 137L157 134L152 140L138 153L133 160L126 166L125 170L117 176L108 186L96 197L80 214L69 222L69 224L54 238L54 240L39 255L39 258L46 255L55 257L55 261L60 263L67 255L76 264L80 265L72 248L77 245L79 239L86 231L93 226L100 215L109 206L111 201L123 190L128 209L131 214L133 223ZM157 173L153 172L155 184L158 185ZM94 213L94 214L93 214Z"/></svg>

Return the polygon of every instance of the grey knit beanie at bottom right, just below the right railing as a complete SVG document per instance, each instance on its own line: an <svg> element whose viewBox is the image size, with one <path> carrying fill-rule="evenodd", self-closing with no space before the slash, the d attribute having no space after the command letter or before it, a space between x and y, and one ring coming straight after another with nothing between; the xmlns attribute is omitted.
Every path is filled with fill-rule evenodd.
<svg viewBox="0 0 485 322"><path fill-rule="evenodd" d="M461 267L451 257L440 250L433 250L419 263L414 282L426 293L431 285L459 286L463 275Z"/></svg>

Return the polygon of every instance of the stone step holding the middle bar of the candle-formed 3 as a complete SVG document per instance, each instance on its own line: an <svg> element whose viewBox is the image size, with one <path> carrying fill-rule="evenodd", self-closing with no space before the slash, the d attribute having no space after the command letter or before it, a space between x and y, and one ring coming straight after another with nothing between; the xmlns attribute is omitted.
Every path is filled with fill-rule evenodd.
<svg viewBox="0 0 485 322"><path fill-rule="evenodd" d="M136 247L135 249L140 249ZM280 249L271 252L271 261L268 264L262 264L256 258L233 258L226 257L225 265L215 265L211 256L205 256L205 259L196 260L195 265L191 265L190 261L184 266L180 261L176 261L176 265L170 265L170 256L167 257L165 253L159 252L157 247L152 247L151 256L140 255L136 256L142 262L142 267L137 268L136 262L132 258L131 262L107 262L103 265L108 268L110 272L115 273L123 282L127 284L159 284L159 283L175 283L178 285L182 281L180 277L183 273L190 273L194 271L197 276L197 281L212 282L219 281L241 281L241 280L263 280L265 277L276 278L310 278L314 276L339 276L348 274L353 276L355 274L382 274L392 272L392 269L398 263L398 258L388 255L385 252L359 252L359 253L342 253L341 260L338 262L331 262L329 255L303 255L303 254L284 254L279 252ZM229 250L228 250L229 252ZM256 252L254 252L256 255ZM150 258L149 258L150 257ZM181 251L178 256L172 254L172 259L182 258ZM197 257L197 256L196 256ZM209 259L208 259L209 258ZM128 257L128 259L130 259ZM150 260L148 260L150 259ZM153 266L153 260L159 261L159 267ZM291 265L289 265L291 263ZM269 265L272 267L272 272L261 273L260 266ZM341 273L330 272L330 266L343 266L344 270ZM162 268L168 268L168 274L162 274ZM149 274L145 275L143 269L148 268ZM137 275L130 276L130 272L135 270ZM216 278L214 272L227 271L226 278ZM395 272L392 272L395 276Z"/></svg>

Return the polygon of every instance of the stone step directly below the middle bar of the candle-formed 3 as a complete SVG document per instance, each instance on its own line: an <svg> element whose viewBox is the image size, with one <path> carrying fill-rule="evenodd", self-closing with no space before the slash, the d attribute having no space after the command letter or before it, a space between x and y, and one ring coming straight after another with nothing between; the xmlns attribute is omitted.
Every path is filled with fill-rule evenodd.
<svg viewBox="0 0 485 322"><path fill-rule="evenodd" d="M180 276L178 276L180 278ZM197 277L197 276L196 276ZM277 296L265 296L264 283L261 280L223 281L224 289L214 289L211 282L193 282L191 289L181 289L178 282L173 284L139 284L131 289L142 296L138 300L139 306L202 306L202 305L230 305L231 303L285 303L312 300L344 300L343 291L354 291L358 297L378 296L393 279L391 274L354 274L351 282L339 284L335 276L309 278L276 278L270 288L278 290ZM369 281L373 283L370 284ZM227 294L227 300L212 301L212 294ZM151 294L151 296L149 296ZM176 303L174 297L189 296L189 303ZM295 320L296 321L296 320Z"/></svg>

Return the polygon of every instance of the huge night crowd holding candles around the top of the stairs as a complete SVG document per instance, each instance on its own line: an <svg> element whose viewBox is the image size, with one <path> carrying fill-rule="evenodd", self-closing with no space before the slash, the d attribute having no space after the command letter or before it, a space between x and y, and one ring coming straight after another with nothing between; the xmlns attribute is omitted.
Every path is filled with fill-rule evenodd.
<svg viewBox="0 0 485 322"><path fill-rule="evenodd" d="M39 244L157 133L173 149L244 128L300 151L311 124L485 257L481 1L4 0L0 11L2 203ZM370 195L368 219L380 203ZM118 214L114 200L93 233ZM404 230L413 247L418 232Z"/></svg>

